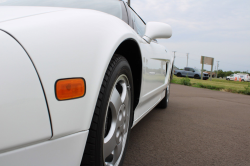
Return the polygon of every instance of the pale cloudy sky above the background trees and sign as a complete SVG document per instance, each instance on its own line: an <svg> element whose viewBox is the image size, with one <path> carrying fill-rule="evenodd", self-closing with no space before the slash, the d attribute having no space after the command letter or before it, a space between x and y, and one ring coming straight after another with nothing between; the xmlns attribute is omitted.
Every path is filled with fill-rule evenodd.
<svg viewBox="0 0 250 166"><path fill-rule="evenodd" d="M203 55L223 71L250 72L250 0L131 0L131 7L145 22L172 27L172 37L158 42L176 51L178 68L186 67L189 53L190 67L200 69Z"/></svg>

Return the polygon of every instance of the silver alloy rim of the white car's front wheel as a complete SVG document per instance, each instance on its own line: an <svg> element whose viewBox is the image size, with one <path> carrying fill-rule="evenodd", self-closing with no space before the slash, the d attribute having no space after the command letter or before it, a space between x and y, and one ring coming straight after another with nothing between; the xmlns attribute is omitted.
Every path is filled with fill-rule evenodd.
<svg viewBox="0 0 250 166"><path fill-rule="evenodd" d="M130 102L129 82L125 75L121 75L113 86L107 107L103 143L103 160L106 166L114 166L120 162L127 140Z"/></svg>

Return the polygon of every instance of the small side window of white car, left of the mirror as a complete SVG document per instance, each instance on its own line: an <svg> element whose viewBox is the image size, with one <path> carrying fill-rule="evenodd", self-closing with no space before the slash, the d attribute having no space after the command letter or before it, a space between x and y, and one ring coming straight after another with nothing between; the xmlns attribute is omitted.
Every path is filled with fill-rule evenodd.
<svg viewBox="0 0 250 166"><path fill-rule="evenodd" d="M132 22L134 24L135 31L141 37L143 37L144 34L145 34L145 29L146 29L145 23L142 21L142 19L132 9L130 10L130 13L131 13Z"/></svg>

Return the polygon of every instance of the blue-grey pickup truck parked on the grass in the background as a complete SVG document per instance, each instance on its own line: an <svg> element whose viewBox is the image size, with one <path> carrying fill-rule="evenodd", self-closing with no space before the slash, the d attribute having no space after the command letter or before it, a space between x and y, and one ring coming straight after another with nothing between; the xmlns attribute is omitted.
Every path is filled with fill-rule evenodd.
<svg viewBox="0 0 250 166"><path fill-rule="evenodd" d="M177 77L191 77L196 79L201 79L201 70L191 67L185 67L184 70L175 70L174 75ZM203 79L207 80L209 78L208 73L203 72Z"/></svg>

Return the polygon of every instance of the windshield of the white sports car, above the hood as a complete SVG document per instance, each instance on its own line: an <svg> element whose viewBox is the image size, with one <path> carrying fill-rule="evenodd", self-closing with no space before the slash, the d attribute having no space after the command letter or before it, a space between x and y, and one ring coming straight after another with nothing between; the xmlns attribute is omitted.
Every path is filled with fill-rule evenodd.
<svg viewBox="0 0 250 166"><path fill-rule="evenodd" d="M46 6L94 9L122 19L121 3L114 0L0 0L0 6Z"/></svg>

